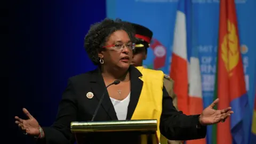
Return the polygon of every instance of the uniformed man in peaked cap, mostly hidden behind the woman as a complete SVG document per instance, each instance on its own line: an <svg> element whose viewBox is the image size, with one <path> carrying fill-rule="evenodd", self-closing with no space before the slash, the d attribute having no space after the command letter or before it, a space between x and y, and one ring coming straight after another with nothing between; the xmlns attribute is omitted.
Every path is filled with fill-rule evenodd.
<svg viewBox="0 0 256 144"><path fill-rule="evenodd" d="M135 33L136 33L135 37L137 38L137 42L135 44L136 49L133 55L132 65L134 65L135 67L143 66L143 60L147 59L147 49L150 45L153 32L144 26L141 26L135 23L132 23L132 25L135 29ZM170 97L172 98L173 106L177 109L177 97L173 93L173 80L168 75L164 75L164 86L167 92L169 93ZM163 135L161 135L161 137L163 137ZM161 138L161 141L162 140L163 138ZM173 140L167 140L167 141L170 144L183 143L182 141L173 141Z"/></svg>

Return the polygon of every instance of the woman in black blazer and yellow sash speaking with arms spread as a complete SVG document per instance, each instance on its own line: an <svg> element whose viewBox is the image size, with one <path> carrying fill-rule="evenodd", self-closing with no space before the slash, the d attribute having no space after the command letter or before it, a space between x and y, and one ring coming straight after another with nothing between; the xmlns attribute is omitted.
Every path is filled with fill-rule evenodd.
<svg viewBox="0 0 256 144"><path fill-rule="evenodd" d="M187 116L177 111L163 86L162 71L130 65L134 35L133 27L121 20L105 19L93 25L85 36L84 47L98 68L69 78L53 125L41 127L25 108L28 119L15 116L15 123L25 134L36 137L38 143L74 143L70 123L91 121L106 86L115 81L116 85L108 87L94 121L157 119L158 139L161 133L169 140L191 140L204 138L206 125L224 122L234 113L230 107L214 110L218 99L200 115ZM133 143L122 134L91 137L86 142Z"/></svg>

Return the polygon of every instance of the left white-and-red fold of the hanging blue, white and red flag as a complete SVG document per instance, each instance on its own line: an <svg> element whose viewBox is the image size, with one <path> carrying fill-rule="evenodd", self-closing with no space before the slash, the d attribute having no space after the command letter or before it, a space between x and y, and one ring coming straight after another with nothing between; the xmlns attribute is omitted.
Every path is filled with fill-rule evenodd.
<svg viewBox="0 0 256 144"><path fill-rule="evenodd" d="M173 92L177 95L178 109L188 114L188 57L184 0L179 1L178 4L170 77L174 81Z"/></svg>

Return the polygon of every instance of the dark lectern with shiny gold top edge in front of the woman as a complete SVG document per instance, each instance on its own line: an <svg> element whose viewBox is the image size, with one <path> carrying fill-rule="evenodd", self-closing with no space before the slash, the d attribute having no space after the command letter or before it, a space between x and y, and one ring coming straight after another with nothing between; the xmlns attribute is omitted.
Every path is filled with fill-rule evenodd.
<svg viewBox="0 0 256 144"><path fill-rule="evenodd" d="M158 143L157 120L72 122L71 132L78 144Z"/></svg>

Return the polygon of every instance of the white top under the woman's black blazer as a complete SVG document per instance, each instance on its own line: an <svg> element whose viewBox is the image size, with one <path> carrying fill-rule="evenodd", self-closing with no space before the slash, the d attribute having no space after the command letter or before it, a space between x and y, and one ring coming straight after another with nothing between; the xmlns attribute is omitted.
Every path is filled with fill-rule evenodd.
<svg viewBox="0 0 256 144"><path fill-rule="evenodd" d="M118 120L125 120L127 116L127 110L128 110L128 105L130 102L130 97L131 97L131 92L128 94L128 96L123 99L123 100L116 100L113 98L110 98L115 111L116 111L116 116Z"/></svg>

